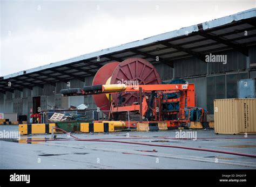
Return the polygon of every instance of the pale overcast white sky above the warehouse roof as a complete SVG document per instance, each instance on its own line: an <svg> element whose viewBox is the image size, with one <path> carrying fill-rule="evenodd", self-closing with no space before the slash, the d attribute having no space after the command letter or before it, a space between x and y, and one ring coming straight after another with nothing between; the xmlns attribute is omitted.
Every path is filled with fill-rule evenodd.
<svg viewBox="0 0 256 187"><path fill-rule="evenodd" d="M256 6L255 0L0 1L0 76Z"/></svg>

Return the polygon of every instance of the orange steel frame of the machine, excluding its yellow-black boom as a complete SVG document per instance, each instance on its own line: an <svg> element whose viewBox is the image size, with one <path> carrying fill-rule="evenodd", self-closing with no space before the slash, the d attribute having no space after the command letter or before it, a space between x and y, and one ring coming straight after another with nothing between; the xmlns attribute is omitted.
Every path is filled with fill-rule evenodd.
<svg viewBox="0 0 256 187"><path fill-rule="evenodd" d="M104 85L102 90L106 92ZM139 96L139 102L131 105L123 105L122 102L119 102L122 100L122 96L119 101L111 101L109 113L111 120L125 120L122 118L122 114L127 111L133 114L135 120L127 121L126 126L131 126L131 124L136 126L141 121L149 121L149 123L166 121L167 127L177 127L190 121L191 109L186 108L196 107L194 84L137 85L127 87L120 92L130 92L133 95L137 93ZM171 94L178 96L169 97ZM169 105L173 106L171 110L169 110Z"/></svg>

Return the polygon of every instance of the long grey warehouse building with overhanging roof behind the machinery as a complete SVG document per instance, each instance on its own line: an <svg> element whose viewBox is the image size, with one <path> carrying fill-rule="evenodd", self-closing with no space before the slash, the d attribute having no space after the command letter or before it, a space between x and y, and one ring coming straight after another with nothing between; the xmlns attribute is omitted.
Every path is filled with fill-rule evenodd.
<svg viewBox="0 0 256 187"><path fill-rule="evenodd" d="M164 82L194 83L197 106L213 119L214 99L236 98L237 82L256 78L256 9L0 77L0 113L95 109L92 96L63 97L60 90L91 85L104 64L130 57L151 62Z"/></svg>

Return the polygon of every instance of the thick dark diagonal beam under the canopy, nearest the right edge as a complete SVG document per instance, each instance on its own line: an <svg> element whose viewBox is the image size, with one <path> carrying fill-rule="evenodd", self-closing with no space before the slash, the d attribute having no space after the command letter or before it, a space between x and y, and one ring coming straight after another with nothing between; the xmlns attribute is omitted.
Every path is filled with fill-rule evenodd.
<svg viewBox="0 0 256 187"><path fill-rule="evenodd" d="M217 41L217 42L219 42L221 44L225 44L227 46L230 46L235 51L240 52L240 53L242 53L242 54L244 54L246 56L249 55L247 47L241 47L241 45L234 44L234 43L232 43L232 42L230 42L228 40L222 39L221 37L218 37L218 35L212 35L212 34L209 34L209 33L203 32L203 31L198 32L198 34L203 36L203 37L205 37L205 38Z"/></svg>

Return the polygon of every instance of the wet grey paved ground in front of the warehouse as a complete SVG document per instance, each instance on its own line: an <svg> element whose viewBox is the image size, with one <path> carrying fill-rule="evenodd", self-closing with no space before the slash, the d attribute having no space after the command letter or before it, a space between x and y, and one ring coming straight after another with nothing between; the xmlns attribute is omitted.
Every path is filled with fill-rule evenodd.
<svg viewBox="0 0 256 187"><path fill-rule="evenodd" d="M0 125L0 131L18 131L16 125ZM185 131L185 130L184 130ZM244 137L243 135L215 135L214 130L193 130L197 138ZM256 135L248 139L163 139L175 138L177 131L114 132L109 134L73 134L83 139L125 138L122 141L175 145L225 150L256 155ZM145 138L151 139L145 139ZM51 138L50 134L22 135L21 139ZM57 134L57 138L67 138ZM144 139L140 139L144 138ZM11 139L0 141L0 169L255 169L256 158L203 152L180 148L132 145L117 142L46 141L17 143ZM61 140L61 139L59 139ZM116 139L118 140L118 139Z"/></svg>

